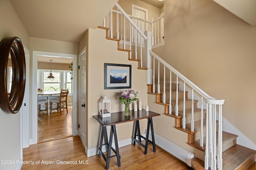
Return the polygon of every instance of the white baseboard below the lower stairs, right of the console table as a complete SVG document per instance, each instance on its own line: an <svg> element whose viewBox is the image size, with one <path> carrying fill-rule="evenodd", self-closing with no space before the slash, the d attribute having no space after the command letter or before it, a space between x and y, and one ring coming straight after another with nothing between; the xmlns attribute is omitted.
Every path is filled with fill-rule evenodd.
<svg viewBox="0 0 256 170"><path fill-rule="evenodd" d="M151 134L151 131L149 132ZM167 139L161 137L160 135L154 133L155 143L158 147L164 149L166 152L172 154L182 162L185 162L188 166L192 166L192 159L195 157L194 153L168 141ZM148 137L149 140L152 140L151 135Z"/></svg>

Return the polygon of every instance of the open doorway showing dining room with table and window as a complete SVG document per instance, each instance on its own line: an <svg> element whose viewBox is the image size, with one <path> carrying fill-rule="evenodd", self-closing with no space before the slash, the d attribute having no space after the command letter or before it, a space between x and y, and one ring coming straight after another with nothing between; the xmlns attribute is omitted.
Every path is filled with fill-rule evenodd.
<svg viewBox="0 0 256 170"><path fill-rule="evenodd" d="M48 103L38 106L38 143L61 139L72 136L72 100L73 100L73 82L72 58L38 56L37 71L37 89L42 92L54 93L52 98L58 98L57 94L62 89L68 90L67 109L57 108L57 103L50 102L52 109L48 110ZM54 78L48 78L49 72ZM38 98L49 98L48 95L38 95ZM56 100L56 99L55 99Z"/></svg>

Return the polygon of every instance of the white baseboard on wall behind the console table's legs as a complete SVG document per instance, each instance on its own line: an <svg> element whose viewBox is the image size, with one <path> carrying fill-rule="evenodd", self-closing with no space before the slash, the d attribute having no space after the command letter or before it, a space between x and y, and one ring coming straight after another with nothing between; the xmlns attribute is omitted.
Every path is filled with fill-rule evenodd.
<svg viewBox="0 0 256 170"><path fill-rule="evenodd" d="M142 136L145 137L145 134L143 134ZM144 139L141 139L141 140L143 141ZM126 145L130 145L130 144L132 144L132 138L124 139L122 141L118 141L118 148L124 147ZM116 148L115 143L112 143L112 147ZM102 152L106 152L106 151L107 151L106 150L106 145L102 146ZM86 148L85 152L86 152L87 157L94 156L94 155L99 153L98 152L98 147L92 148L92 149L87 149Z"/></svg>

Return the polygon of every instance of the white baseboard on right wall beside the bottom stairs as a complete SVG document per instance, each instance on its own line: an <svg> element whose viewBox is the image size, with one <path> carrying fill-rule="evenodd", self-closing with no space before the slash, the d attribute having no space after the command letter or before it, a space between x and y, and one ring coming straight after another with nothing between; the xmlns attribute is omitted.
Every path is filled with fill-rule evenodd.
<svg viewBox="0 0 256 170"><path fill-rule="evenodd" d="M240 132L236 127L229 123L224 117L222 117L222 130L228 133L233 133L238 135L236 138L236 143L244 147L256 150L256 145L248 139L242 132Z"/></svg>

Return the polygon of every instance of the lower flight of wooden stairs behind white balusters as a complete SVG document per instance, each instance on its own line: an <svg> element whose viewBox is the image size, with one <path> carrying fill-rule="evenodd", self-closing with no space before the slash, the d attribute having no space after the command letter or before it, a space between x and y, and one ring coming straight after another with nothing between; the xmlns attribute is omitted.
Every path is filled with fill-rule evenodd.
<svg viewBox="0 0 256 170"><path fill-rule="evenodd" d="M168 90L167 90L168 91ZM205 146L200 147L200 114L201 114L201 109L200 108L194 108L194 131L191 131L191 123L187 120L191 120L191 110L192 108L189 106L192 106L191 102L192 100L188 99L188 92L185 92L185 98L186 98L186 128L182 128L182 114L183 110L179 109L178 116L175 115L174 111L175 110L173 107L175 106L175 99L176 99L176 84L172 84L172 114L168 113L168 107L170 106L169 104L164 104L162 102L162 94L163 92L160 93L152 93L152 84L148 84L148 94L155 95L156 96L156 103L163 105L165 108L164 110L166 111L164 115L170 116L174 118L175 121L175 128L183 131L184 133L188 134L188 145L202 150L203 152L205 151ZM182 101L183 100L183 91L178 91L178 100ZM166 96L169 96L168 94ZM166 98L168 101L169 99ZM198 100L194 100L194 106L197 106ZM183 108L183 103L181 102L179 104L179 108ZM204 129L205 128L205 118L206 118L206 110L204 110ZM216 124L218 124L218 121L216 121ZM218 129L218 127L217 127ZM203 132L204 135L204 143L206 140L206 133L205 131ZM218 135L216 135L218 136ZM238 135L234 135L225 131L222 131L222 150L223 150L223 170L246 170L248 169L252 164L255 164L255 158L256 158L256 151L252 149L248 149L246 147L243 147L241 145L236 144L236 138ZM218 137L217 137L218 141ZM217 149L218 150L218 149ZM254 166L255 167L255 166ZM194 158L192 160L192 168L195 170L204 170L204 162L198 158Z"/></svg>

